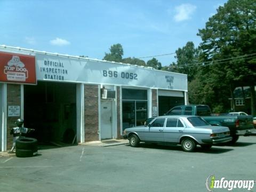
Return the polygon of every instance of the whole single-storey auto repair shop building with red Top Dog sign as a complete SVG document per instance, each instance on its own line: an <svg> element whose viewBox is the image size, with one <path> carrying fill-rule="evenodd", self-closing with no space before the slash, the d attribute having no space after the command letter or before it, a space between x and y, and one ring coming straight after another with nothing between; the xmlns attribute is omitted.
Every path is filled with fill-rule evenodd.
<svg viewBox="0 0 256 192"><path fill-rule="evenodd" d="M105 60L0 45L0 151L23 118L39 142L122 138L187 104L187 75Z"/></svg>

